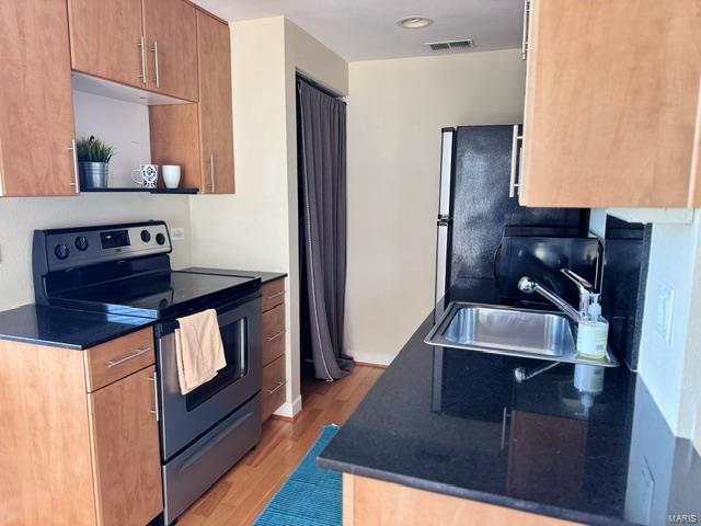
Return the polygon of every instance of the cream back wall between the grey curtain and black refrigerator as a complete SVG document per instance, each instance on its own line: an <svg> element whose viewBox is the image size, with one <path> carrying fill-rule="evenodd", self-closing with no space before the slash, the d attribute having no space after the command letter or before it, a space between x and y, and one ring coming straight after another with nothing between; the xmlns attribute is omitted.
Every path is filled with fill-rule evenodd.
<svg viewBox="0 0 701 526"><path fill-rule="evenodd" d="M440 128L513 124L519 50L352 62L346 347L388 364L433 308Z"/></svg>

